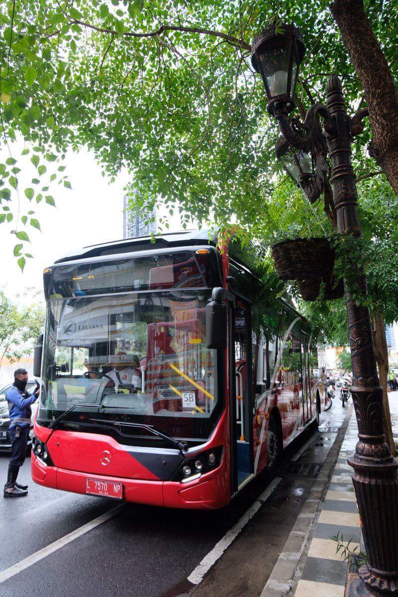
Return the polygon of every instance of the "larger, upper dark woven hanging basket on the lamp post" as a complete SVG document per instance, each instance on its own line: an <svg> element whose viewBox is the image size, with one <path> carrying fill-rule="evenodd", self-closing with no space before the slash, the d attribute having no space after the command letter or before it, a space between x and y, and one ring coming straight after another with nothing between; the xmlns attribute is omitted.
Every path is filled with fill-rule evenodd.
<svg viewBox="0 0 398 597"><path fill-rule="evenodd" d="M326 238L295 238L278 242L272 256L279 278L287 280L331 279L335 251Z"/></svg>

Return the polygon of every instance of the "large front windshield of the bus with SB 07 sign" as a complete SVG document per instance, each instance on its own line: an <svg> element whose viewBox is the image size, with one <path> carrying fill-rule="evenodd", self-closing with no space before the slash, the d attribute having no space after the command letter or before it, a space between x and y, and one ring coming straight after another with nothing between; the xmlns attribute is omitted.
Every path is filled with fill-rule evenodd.
<svg viewBox="0 0 398 597"><path fill-rule="evenodd" d="M74 416L94 410L92 417L207 438L221 407L217 351L205 347L209 296L190 290L48 301L39 422L73 406Z"/></svg>

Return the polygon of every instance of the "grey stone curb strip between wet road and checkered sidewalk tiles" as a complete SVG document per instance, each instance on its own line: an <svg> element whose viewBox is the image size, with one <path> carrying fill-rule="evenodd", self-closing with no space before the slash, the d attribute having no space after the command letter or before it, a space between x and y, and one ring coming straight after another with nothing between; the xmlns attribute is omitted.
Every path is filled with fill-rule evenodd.
<svg viewBox="0 0 398 597"><path fill-rule="evenodd" d="M319 505L329 487L352 413L351 404L260 597L286 597L288 592L297 586L307 559L310 543L308 538L316 522Z"/></svg>

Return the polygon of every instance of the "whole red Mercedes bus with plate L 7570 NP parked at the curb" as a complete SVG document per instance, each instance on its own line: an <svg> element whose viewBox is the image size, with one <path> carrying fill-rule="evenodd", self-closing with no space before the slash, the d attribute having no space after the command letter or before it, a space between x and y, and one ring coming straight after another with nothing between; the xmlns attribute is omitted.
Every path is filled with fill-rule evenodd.
<svg viewBox="0 0 398 597"><path fill-rule="evenodd" d="M196 230L87 247L44 270L36 483L220 508L316 426L326 396L308 322L288 298L261 305L235 246L220 252Z"/></svg>

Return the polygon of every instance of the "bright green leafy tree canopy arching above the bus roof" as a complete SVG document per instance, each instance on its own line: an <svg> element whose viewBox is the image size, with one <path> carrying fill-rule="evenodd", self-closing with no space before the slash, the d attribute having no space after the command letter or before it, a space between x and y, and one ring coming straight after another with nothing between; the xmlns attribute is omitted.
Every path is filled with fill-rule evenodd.
<svg viewBox="0 0 398 597"><path fill-rule="evenodd" d="M397 4L365 5L394 78ZM298 229L296 216L309 217L307 206L293 215L272 214L282 181L274 158L279 133L249 61L252 36L276 16L304 34L298 109L303 113L323 99L332 72L343 78L351 109L363 105L323 0L3 2L0 222L17 236L20 267L30 256L27 227L40 226L36 206L54 205L51 184L70 187L61 160L67 149L83 146L92 149L105 177L127 168L135 208L163 202L180 209L183 226L192 216L216 224L233 218L257 239L270 213ZM21 137L25 158L14 149ZM355 167L366 184L379 168L364 150L369 131L361 137ZM19 168L26 161L32 184L21 189Z"/></svg>

